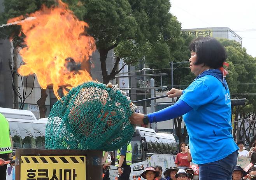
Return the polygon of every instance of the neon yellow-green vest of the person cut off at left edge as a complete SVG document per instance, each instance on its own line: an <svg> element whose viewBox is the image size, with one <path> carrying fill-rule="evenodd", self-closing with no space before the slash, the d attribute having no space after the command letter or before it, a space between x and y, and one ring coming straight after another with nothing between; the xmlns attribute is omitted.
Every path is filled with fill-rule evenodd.
<svg viewBox="0 0 256 180"><path fill-rule="evenodd" d="M12 145L9 135L9 123L0 113L0 154L12 153Z"/></svg>

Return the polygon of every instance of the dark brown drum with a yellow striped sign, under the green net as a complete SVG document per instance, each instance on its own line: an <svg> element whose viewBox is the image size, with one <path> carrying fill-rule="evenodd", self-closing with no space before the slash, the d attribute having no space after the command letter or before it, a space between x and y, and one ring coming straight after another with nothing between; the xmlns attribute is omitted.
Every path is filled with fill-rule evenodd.
<svg viewBox="0 0 256 180"><path fill-rule="evenodd" d="M102 151L17 149L15 180L100 180Z"/></svg>

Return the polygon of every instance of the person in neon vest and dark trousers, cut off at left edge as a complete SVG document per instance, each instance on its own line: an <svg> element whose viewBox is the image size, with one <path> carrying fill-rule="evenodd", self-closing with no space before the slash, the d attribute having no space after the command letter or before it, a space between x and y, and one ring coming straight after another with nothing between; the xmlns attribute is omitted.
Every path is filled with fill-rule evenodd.
<svg viewBox="0 0 256 180"><path fill-rule="evenodd" d="M0 159L12 157L12 138L7 119L0 113ZM7 164L0 166L0 180L6 179Z"/></svg>

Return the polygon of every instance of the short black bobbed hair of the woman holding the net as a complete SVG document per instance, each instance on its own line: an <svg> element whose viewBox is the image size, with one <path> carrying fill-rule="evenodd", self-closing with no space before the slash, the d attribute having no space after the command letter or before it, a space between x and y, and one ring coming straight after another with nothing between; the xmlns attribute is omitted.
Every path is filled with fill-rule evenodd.
<svg viewBox="0 0 256 180"><path fill-rule="evenodd" d="M189 45L189 50L196 53L195 65L203 64L212 69L223 67L223 62L227 58L223 45L209 36L193 40Z"/></svg>

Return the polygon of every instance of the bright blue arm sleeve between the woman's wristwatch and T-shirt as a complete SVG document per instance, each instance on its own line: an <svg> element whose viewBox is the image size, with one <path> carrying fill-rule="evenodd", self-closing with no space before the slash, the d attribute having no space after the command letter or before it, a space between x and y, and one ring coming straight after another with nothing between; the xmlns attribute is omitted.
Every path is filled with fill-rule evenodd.
<svg viewBox="0 0 256 180"><path fill-rule="evenodd" d="M192 110L192 108L182 100L178 100L174 105L160 111L148 114L150 123L166 121L175 117L182 116Z"/></svg>

